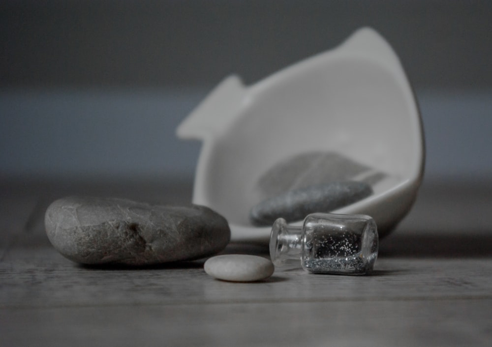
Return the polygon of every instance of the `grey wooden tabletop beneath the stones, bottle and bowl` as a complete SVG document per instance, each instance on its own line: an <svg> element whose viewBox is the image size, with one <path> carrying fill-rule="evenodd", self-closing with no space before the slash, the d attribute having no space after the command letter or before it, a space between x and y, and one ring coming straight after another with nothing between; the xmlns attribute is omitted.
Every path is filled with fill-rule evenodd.
<svg viewBox="0 0 492 347"><path fill-rule="evenodd" d="M203 260L142 269L64 259L44 227L71 194L187 203L190 181L1 183L0 346L492 346L492 184L426 182L372 276L214 280ZM224 253L267 257L262 244Z"/></svg>

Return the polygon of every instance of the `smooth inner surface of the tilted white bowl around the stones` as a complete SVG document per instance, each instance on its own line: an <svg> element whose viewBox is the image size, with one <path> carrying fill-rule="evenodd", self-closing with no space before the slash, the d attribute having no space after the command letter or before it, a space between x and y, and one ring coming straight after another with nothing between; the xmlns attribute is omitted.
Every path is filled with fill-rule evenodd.
<svg viewBox="0 0 492 347"><path fill-rule="evenodd" d="M383 65L334 59L247 92L235 122L213 143L208 165L205 195L231 224L251 226L250 208L266 197L258 188L262 177L296 155L331 153L374 169L383 174L374 195L418 176L415 101ZM281 179L282 170L276 174Z"/></svg>

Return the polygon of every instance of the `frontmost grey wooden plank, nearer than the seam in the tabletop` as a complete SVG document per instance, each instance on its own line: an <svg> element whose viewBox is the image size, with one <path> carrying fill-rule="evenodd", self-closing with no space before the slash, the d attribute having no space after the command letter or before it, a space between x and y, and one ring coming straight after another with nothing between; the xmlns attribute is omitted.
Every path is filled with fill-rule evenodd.
<svg viewBox="0 0 492 347"><path fill-rule="evenodd" d="M490 346L492 300L1 310L4 346Z"/></svg>

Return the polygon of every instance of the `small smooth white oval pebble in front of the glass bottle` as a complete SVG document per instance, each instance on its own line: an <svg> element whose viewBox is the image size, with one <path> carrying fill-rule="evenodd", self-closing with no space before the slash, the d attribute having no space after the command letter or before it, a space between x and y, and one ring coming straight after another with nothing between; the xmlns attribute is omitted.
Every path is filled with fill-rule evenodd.
<svg viewBox="0 0 492 347"><path fill-rule="evenodd" d="M272 261L243 254L225 254L205 261L204 269L210 276L223 281L253 282L264 280L274 273Z"/></svg>

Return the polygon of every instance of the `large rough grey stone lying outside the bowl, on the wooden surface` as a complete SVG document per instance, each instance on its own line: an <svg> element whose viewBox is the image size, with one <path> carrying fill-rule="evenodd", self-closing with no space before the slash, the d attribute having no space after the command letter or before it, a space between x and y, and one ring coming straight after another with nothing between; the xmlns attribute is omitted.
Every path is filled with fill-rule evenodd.
<svg viewBox="0 0 492 347"><path fill-rule="evenodd" d="M45 215L53 246L83 264L148 265L204 258L230 240L227 221L199 205L153 205L115 198L68 197Z"/></svg>

